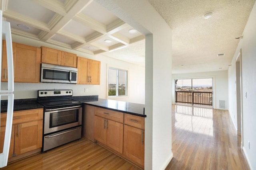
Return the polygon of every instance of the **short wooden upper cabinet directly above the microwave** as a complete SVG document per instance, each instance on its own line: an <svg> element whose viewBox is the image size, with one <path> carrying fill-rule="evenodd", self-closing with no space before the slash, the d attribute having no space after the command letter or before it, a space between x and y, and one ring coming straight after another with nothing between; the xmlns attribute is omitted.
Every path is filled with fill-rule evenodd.
<svg viewBox="0 0 256 170"><path fill-rule="evenodd" d="M65 51L60 51L56 49L51 49L48 47L42 47L42 63L62 65L75 67L76 64L76 54L68 53Z"/></svg>

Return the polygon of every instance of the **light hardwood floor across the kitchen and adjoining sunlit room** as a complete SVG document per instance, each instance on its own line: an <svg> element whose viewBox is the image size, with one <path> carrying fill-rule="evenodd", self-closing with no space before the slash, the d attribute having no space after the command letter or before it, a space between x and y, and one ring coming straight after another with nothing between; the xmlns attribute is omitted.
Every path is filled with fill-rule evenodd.
<svg viewBox="0 0 256 170"><path fill-rule="evenodd" d="M166 170L249 170L228 111L172 106L172 152ZM8 170L137 170L85 138L10 163ZM1 170L2 170L1 169Z"/></svg>

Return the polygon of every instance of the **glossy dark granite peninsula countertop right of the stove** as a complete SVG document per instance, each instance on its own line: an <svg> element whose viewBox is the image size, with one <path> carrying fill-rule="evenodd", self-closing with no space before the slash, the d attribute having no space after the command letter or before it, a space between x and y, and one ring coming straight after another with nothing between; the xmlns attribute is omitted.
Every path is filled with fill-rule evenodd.
<svg viewBox="0 0 256 170"><path fill-rule="evenodd" d="M73 97L74 99L74 97ZM144 114L144 104L136 104L136 103L131 103L131 102L122 102L122 101L117 101L117 100L108 100L108 99L86 99L82 98L80 96L80 99L75 99L80 102L83 102L84 104L88 104L91 106L96 106L96 107L102 107L105 109L110 109L114 111L120 111L123 113L128 113L132 115L138 115L142 117L146 117Z"/></svg>

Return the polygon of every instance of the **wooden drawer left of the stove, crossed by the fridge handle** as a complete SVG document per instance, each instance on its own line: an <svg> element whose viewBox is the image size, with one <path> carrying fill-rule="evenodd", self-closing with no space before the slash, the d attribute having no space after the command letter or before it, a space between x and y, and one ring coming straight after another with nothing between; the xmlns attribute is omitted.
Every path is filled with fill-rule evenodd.
<svg viewBox="0 0 256 170"><path fill-rule="evenodd" d="M1 113L1 126L6 125L6 116L7 113ZM18 124L28 121L36 121L43 119L43 109L30 109L30 110L22 110L22 111L14 111L12 124Z"/></svg>

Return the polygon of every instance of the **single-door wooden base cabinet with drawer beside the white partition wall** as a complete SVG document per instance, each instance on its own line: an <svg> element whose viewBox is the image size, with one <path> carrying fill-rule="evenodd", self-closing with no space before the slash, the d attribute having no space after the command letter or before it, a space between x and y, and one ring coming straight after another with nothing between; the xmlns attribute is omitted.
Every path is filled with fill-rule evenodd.
<svg viewBox="0 0 256 170"><path fill-rule="evenodd" d="M124 115L124 156L144 168L144 117Z"/></svg>

